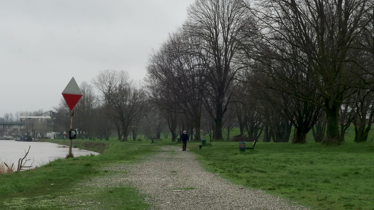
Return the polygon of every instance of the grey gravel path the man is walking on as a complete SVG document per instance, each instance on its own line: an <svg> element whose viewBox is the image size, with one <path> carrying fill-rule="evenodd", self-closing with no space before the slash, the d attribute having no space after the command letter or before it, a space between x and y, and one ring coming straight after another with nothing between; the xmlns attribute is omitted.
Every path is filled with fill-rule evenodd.
<svg viewBox="0 0 374 210"><path fill-rule="evenodd" d="M130 173L118 181L130 182L162 210L306 210L261 190L243 188L206 172L195 156L177 147L162 148L144 163L124 165ZM186 161L187 160L187 161ZM122 168L122 167L121 167ZM122 168L123 169L123 168ZM187 189L180 189L187 188Z"/></svg>

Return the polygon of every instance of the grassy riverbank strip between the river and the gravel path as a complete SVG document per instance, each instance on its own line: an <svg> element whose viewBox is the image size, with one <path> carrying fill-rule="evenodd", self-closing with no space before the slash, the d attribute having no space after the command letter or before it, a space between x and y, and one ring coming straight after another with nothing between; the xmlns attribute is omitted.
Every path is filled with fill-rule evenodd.
<svg viewBox="0 0 374 210"><path fill-rule="evenodd" d="M142 161L144 155L159 150L157 145L114 140L74 140L73 145L102 154L59 159L34 170L0 175L0 209L147 209L148 205L135 188L88 187L82 183L89 183L95 177L126 173L102 168Z"/></svg>

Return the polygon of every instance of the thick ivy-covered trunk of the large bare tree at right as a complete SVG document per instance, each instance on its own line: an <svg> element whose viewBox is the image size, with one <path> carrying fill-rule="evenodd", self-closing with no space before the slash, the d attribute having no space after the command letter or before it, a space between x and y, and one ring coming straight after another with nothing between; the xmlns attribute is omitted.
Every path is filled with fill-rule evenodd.
<svg viewBox="0 0 374 210"><path fill-rule="evenodd" d="M328 101L326 103L328 104ZM327 145L339 145L341 143L338 125L338 107L339 106L337 104L333 104L331 108L326 109L327 135L322 143L325 143Z"/></svg>

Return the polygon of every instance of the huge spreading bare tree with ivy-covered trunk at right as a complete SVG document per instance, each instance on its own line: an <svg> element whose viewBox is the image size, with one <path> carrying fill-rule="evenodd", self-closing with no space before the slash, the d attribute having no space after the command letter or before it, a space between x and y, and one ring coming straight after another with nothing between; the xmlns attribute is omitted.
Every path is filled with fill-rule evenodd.
<svg viewBox="0 0 374 210"><path fill-rule="evenodd" d="M371 83L358 77L367 71L356 62L362 51L357 44L358 38L369 23L367 11L373 10L371 1L255 0L254 4L246 3L246 6L256 17L258 33L262 34L262 42L258 43L260 51L267 50L272 55L261 56L257 61L275 58L274 61L301 62L304 68L299 71L311 79L315 86L313 90L323 102L299 89L283 91L322 108L327 116L325 142L340 143L338 111L344 99L349 97L347 90ZM300 53L291 55L292 51L282 50L283 43L279 40ZM300 80L279 75L283 80L303 87Z"/></svg>

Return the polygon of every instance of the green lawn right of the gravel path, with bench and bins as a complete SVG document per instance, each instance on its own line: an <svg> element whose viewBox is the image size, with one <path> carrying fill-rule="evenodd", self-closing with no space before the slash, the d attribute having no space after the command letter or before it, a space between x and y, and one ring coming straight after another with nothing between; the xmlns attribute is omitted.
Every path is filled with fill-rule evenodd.
<svg viewBox="0 0 374 210"><path fill-rule="evenodd" d="M230 136L238 133L234 130ZM201 150L199 142L187 145L208 171L248 188L316 209L374 210L374 130L365 143L353 142L354 136L350 127L340 146L315 143L312 133L306 144L267 143L260 138L255 154L240 153L237 142L212 142Z"/></svg>

